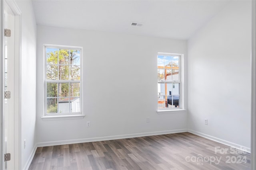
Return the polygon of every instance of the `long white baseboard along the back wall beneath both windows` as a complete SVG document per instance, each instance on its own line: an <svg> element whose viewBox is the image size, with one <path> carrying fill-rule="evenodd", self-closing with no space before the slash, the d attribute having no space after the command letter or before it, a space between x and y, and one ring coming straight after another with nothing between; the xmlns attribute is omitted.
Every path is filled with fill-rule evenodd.
<svg viewBox="0 0 256 170"><path fill-rule="evenodd" d="M68 145L68 144L72 144L72 143L107 141L107 140L114 140L114 139L126 139L126 138L133 138L133 137L164 135L164 134L182 133L182 132L187 132L187 129L177 129L177 130L169 130L169 131L156 131L156 132L146 132L146 133L134 133L134 134L128 134L128 135L114 135L114 136L106 136L106 137L94 137L94 138L84 138L84 139L74 139L74 140L64 140L64 141L41 142L41 143L37 143L37 147L48 147L48 146L55 146L55 145Z"/></svg>

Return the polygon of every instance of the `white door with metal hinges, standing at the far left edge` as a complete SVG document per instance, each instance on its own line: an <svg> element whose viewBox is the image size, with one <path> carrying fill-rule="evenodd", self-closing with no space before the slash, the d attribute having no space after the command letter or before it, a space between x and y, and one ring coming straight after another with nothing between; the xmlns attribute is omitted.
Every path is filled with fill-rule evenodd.
<svg viewBox="0 0 256 170"><path fill-rule="evenodd" d="M1 160L3 163L0 169L14 170L14 55L15 55L15 15L9 5L3 1L3 64L4 64L4 104L2 115L2 152L3 154L10 153L10 160ZM9 95L10 94L10 95ZM4 156L5 159L5 156ZM3 167L2 167L3 166Z"/></svg>

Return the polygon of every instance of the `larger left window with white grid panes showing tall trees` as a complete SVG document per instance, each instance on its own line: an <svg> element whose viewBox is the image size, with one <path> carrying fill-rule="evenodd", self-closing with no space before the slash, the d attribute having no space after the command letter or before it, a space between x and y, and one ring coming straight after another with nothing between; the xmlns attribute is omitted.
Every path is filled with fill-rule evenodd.
<svg viewBox="0 0 256 170"><path fill-rule="evenodd" d="M45 115L82 113L82 48L44 45Z"/></svg>

